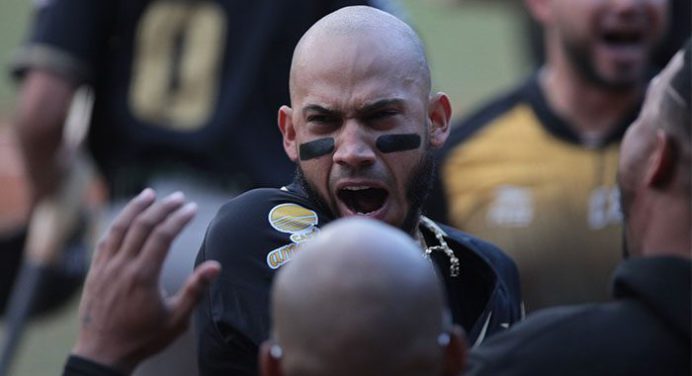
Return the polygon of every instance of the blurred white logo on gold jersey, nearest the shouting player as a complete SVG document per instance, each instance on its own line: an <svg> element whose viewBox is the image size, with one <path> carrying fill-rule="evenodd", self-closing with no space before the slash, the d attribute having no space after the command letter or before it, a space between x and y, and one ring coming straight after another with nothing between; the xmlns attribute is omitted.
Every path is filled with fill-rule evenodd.
<svg viewBox="0 0 692 376"><path fill-rule="evenodd" d="M533 221L534 203L530 189L511 185L495 189L495 201L488 209L491 225L525 227Z"/></svg>

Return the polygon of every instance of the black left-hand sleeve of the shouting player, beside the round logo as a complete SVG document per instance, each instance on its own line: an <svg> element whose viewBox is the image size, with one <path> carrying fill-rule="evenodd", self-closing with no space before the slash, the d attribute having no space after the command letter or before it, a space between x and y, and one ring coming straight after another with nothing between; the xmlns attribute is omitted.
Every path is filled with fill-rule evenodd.
<svg viewBox="0 0 692 376"><path fill-rule="evenodd" d="M197 264L217 260L222 266L195 312L201 375L257 375L259 345L270 328L266 255L283 241L268 229L262 206L268 201L241 196L225 205L197 256Z"/></svg>

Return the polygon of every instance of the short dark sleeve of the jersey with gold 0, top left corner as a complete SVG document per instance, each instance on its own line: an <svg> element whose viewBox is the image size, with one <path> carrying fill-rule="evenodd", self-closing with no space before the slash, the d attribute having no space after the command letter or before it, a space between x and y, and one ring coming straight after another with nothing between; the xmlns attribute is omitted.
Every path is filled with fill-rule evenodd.
<svg viewBox="0 0 692 376"><path fill-rule="evenodd" d="M15 76L48 69L76 82L90 80L109 43L118 1L54 0L39 5L26 43L15 56Z"/></svg>

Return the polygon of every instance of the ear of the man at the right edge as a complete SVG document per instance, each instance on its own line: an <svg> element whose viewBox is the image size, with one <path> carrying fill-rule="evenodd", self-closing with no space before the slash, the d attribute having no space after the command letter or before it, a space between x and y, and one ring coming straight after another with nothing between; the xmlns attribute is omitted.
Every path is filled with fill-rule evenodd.
<svg viewBox="0 0 692 376"><path fill-rule="evenodd" d="M675 176L676 159L673 139L662 129L656 130L656 144L646 167L646 184L654 188L667 186Z"/></svg>

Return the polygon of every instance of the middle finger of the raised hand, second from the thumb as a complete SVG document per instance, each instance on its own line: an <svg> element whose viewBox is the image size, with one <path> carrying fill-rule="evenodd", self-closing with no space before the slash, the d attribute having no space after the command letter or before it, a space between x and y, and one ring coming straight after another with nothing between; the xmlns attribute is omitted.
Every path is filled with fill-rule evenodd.
<svg viewBox="0 0 692 376"><path fill-rule="evenodd" d="M185 196L181 192L175 192L138 215L125 236L120 251L121 255L134 257L139 254L151 232L184 203Z"/></svg>

